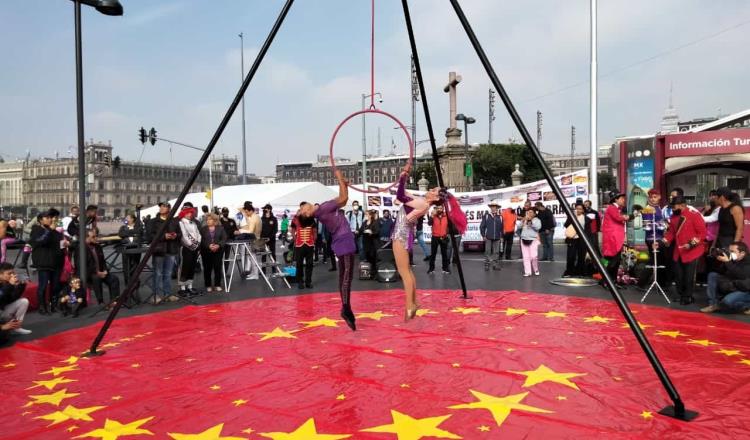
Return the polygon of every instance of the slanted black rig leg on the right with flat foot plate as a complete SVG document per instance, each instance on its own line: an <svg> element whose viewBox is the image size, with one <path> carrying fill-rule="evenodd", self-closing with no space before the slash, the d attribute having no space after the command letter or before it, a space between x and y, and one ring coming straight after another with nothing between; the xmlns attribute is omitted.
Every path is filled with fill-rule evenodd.
<svg viewBox="0 0 750 440"><path fill-rule="evenodd" d="M521 120L521 117L518 115L518 112L516 111L515 106L513 106L513 103L511 102L510 97L508 96L508 93L505 91L505 88L500 83L500 79L498 79L497 74L495 73L495 70L493 69L492 64L490 63L489 58L487 58L487 54L484 53L484 49L482 49L482 45L479 43L479 40L477 39L476 34L474 34L474 30L471 28L471 25L469 24L469 21L466 18L466 15L464 15L464 12L458 3L458 0L450 0L450 2L451 2L451 5L453 6L453 9L456 11L456 15L458 16L458 19L461 22L461 25L463 26L464 31L466 31L466 35L469 37L469 40L471 41L471 45L474 47L474 50L477 52L477 56L479 56L479 60L482 62L484 69L487 71L487 75L490 77L490 80L492 81L492 85L495 87L495 90L497 91L498 95L500 95L500 99L503 100L503 104L505 104L505 108L508 110L508 114L510 115L511 119L513 119L513 123L516 125L516 128L521 133L521 137L523 137L523 140L524 142L526 142L526 145L529 147L529 150L531 150L531 154L534 157L534 160L536 161L537 165L542 169L542 173L544 173L544 177L545 179L547 179L547 183L552 188L552 191L555 193L557 200L560 201L560 205L565 210L565 213L567 214L568 218L573 219L571 223L573 225L573 228L576 230L576 233L578 234L578 236L583 239L583 242L586 244L586 249L588 250L589 254L597 255L597 253L595 252L594 246L592 246L591 241L587 238L583 230L583 225L581 225L575 220L575 216L573 215L572 209L567 203L565 203L565 197L563 196L560 186L557 184L554 177L552 176L552 173L547 167L547 164L544 162L544 158L542 157L542 154L539 152L539 149L534 143L534 140L531 138L529 131L526 129L526 126ZM664 369L664 366L661 364L661 361L659 361L658 356L656 355L653 348L651 347L651 344L646 339L645 334L643 333L641 328L638 326L638 321L636 321L635 317L633 316L633 312L630 310L627 303L625 302L625 299L622 297L620 292L615 287L614 280L611 279L611 277L607 273L606 268L604 267L604 264L602 264L600 259L594 258L594 261L596 262L597 268L602 273L602 276L606 280L607 288L612 294L612 297L614 298L615 303L620 308L620 312L622 312L623 316L625 317L625 320L630 325L630 330L633 332L633 334L635 335L635 338L638 340L638 343L641 345L643 352L646 354L646 358L651 363L651 366L654 368L654 371L656 372L656 375L659 377L659 380L664 386L664 389L667 391L667 394L672 399L672 402L674 402L674 406L668 406L662 409L660 413L663 415L668 415L668 416L675 417L681 420L692 420L698 415L698 413L694 411L688 411L685 409L685 405L682 402L682 399L680 398L680 395L677 392L677 389L672 384L672 381L669 379L669 376L667 375L667 371Z"/></svg>

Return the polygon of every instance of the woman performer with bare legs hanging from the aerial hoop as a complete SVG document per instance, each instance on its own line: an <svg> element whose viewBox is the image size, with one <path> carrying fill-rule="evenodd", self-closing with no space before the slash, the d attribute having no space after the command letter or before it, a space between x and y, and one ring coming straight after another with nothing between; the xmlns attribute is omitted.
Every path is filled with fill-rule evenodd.
<svg viewBox="0 0 750 440"><path fill-rule="evenodd" d="M404 321L417 316L417 280L409 263L409 251L414 245L414 230L417 219L430 209L430 205L447 205L448 219L460 233L466 230L466 215L458 205L458 201L447 190L439 187L427 191L424 197L415 197L406 192L406 181L409 178L411 165L406 165L401 172L398 182L396 199L401 202L396 224L393 226L391 240L393 242L393 256L396 259L396 269L404 281L406 294L406 311Z"/></svg>

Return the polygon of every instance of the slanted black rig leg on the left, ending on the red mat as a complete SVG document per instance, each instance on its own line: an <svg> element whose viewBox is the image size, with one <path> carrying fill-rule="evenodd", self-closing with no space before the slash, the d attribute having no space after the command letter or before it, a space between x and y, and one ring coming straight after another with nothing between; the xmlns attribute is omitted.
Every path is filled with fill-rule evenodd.
<svg viewBox="0 0 750 440"><path fill-rule="evenodd" d="M289 12L289 9L292 7L292 3L294 3L294 0L287 0L286 3L284 4L284 7L281 9L281 12L279 13L278 18L276 19L276 22L273 24L273 27L271 28L271 31L268 34L268 37L266 37L266 41L263 42L263 46L260 48L258 55L255 57L255 61L253 62L252 67L250 67L250 70L247 72L245 81L242 83L242 85L240 86L240 89L237 91L237 95L235 95L234 101L232 101L232 103L229 105L229 109L224 115L224 118L219 123L219 127L216 129L216 132L211 138L211 141L208 143L208 146L206 147L206 151L203 152L203 155L201 156L201 158L198 160L198 163L193 168L193 171L190 174L190 177L185 183L185 186L182 188L182 192L180 192L180 195L177 197L177 200L175 201L174 206L172 206L172 209L169 211L169 214L168 214L169 218L173 218L174 215L177 213L177 209L180 207L180 204L182 204L182 201L185 199L185 196L187 195L188 191L190 191L190 187L193 186L193 183L198 178L198 175L203 169L203 166L205 165L208 158L211 156L211 152L213 151L216 144L219 142L219 139L221 138L222 133L224 133L224 129L226 129L227 124L229 124L229 121L232 119L232 115L234 114L235 110L237 110L237 107L239 106L240 101L242 100L242 97L245 95L245 91L250 85L250 82L255 76L255 73L258 71L258 68L260 67L260 63L263 61L263 58L265 57L266 52L268 52L268 49L271 47L271 43L273 43L273 40L276 37L276 34L278 33L279 29L281 28L282 23L284 23L284 19L286 18L286 15ZM99 334L96 335L96 338L91 343L91 349L89 350L87 355L95 356L95 355L103 353L100 351L98 352L97 348L99 347L99 344L104 338L104 335L107 333L107 330L109 329L110 325L112 325L112 321L115 319L115 316L117 316L117 312L120 311L120 307L122 307L125 301L128 300L130 295L135 290L135 286L138 283L138 279L141 275L141 272L143 272L143 269L146 267L146 263L148 262L149 258L151 258L151 256L154 253L154 244L156 244L157 240L163 239L164 232L166 231L166 228L167 228L167 224L168 224L167 222L164 222L159 228L159 230L156 232L155 237L158 237L158 238L155 238L149 245L148 250L143 256L143 259L141 260L141 262L138 264L138 267L136 267L135 271L131 275L130 281L128 282L128 285L125 288L125 291L117 298L117 303L112 308L112 311L109 313L109 316L107 316L107 320L104 321L104 325L102 325L101 330L99 330Z"/></svg>

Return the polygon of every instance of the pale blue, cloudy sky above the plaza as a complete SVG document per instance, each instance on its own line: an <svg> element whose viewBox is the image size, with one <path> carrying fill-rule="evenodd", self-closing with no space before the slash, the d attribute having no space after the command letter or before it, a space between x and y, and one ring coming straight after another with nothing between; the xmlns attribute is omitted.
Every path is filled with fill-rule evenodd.
<svg viewBox="0 0 750 440"><path fill-rule="evenodd" d="M140 126L205 146L240 83L245 65L275 20L281 0L121 0L123 17L84 7L86 139L111 140L124 159L189 164L198 153L157 143L145 149ZM367 0L298 0L246 94L248 171L272 174L277 162L325 154L338 123L369 92ZM447 1L410 2L435 133L444 141L448 72L463 76L458 111L474 116L469 141L488 140L490 83ZM380 108L411 123L409 45L400 2L376 3L376 90ZM589 140L589 1L465 0L464 10L503 84L542 148L577 150ZM68 155L76 143L73 6L65 0L0 2L0 155ZM658 130L670 82L681 120L750 107L747 57L750 2L606 0L599 2L599 144ZM645 62L642 62L647 60ZM635 64L635 65L634 65ZM628 67L632 66L632 67ZM425 139L421 106L417 139ZM368 119L368 148L394 124ZM501 104L494 140L519 138ZM336 154L361 154L361 125L342 130ZM422 144L424 147L427 144ZM75 154L75 147L72 147ZM235 113L216 154L241 154Z"/></svg>

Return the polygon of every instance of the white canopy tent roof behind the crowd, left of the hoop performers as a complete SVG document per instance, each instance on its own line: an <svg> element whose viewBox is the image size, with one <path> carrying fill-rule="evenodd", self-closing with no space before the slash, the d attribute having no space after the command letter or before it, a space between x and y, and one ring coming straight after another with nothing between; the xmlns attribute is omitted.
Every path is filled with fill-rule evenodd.
<svg viewBox="0 0 750 440"><path fill-rule="evenodd" d="M322 203L330 200L338 192L326 188L318 182L293 182L293 183L272 183L266 185L231 185L222 186L214 190L214 206L229 208L229 214L234 215L239 212L239 208L245 201L253 202L256 209L260 209L266 203L273 206L274 213L281 214L289 210L295 212L299 208L300 202L307 201L310 203ZM190 193L185 197L185 202L191 202L194 206L200 207L209 204L207 193ZM169 203L174 203L177 199L172 199ZM141 216L156 216L159 212L158 206L151 206L141 210Z"/></svg>

